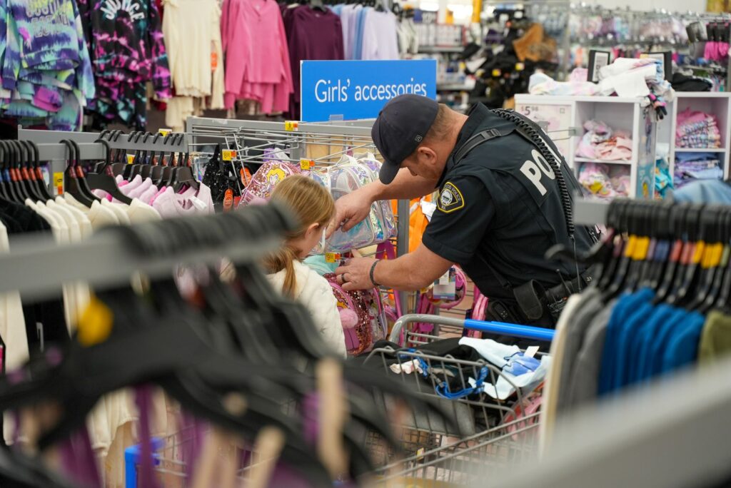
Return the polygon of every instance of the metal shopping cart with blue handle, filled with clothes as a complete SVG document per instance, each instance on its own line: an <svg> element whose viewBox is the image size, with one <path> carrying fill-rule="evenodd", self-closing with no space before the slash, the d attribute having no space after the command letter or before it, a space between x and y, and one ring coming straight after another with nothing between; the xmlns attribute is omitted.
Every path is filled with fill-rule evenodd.
<svg viewBox="0 0 731 488"><path fill-rule="evenodd" d="M414 332L412 324L433 324L430 334ZM419 314L399 319L391 332L393 343L426 345L435 340L461 337L477 329L517 338L550 341L553 330L499 322L474 321ZM402 335L403 333L403 335ZM403 342L402 342L403 341ZM538 352L538 356L542 353ZM368 439L374 459L382 467L377 483L387 487L479 486L491 470L525 462L536 453L540 383L520 387L499 368L483 361L427 354L412 348L391 347L371 351L366 365L382 365L418 392L442 406L451 422L417 413L401 419L401 447L406 457L385 449L375 437ZM398 375L398 376L397 376ZM509 397L492 397L480 384L501 381L515 391ZM394 411L393 400L384 408ZM403 453L402 453L403 454Z"/></svg>

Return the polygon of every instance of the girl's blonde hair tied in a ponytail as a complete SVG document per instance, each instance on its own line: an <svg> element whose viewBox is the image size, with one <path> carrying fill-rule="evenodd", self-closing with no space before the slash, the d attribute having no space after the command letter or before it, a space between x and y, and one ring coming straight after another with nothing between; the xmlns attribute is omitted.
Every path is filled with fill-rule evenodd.
<svg viewBox="0 0 731 488"><path fill-rule="evenodd" d="M282 292L294 297L297 288L295 259L299 258L289 241L302 237L312 224L319 224L322 228L327 226L335 214L335 200L324 186L305 176L294 175L274 188L271 201L287 207L298 218L299 226L287 235L287 242L278 251L265 256L262 264L269 273L286 270Z"/></svg>

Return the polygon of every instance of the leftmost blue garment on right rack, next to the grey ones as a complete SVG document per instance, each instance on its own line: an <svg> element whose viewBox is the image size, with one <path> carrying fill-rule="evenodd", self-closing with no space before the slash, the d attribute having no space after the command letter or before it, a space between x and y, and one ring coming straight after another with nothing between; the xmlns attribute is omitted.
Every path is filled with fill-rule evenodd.
<svg viewBox="0 0 731 488"><path fill-rule="evenodd" d="M643 288L632 294L624 294L614 306L612 316L607 324L604 348L602 349L602 365L599 368L599 385L597 394L603 396L613 392L616 384L616 359L618 355L619 333L632 312L643 302L652 300L654 291Z"/></svg>

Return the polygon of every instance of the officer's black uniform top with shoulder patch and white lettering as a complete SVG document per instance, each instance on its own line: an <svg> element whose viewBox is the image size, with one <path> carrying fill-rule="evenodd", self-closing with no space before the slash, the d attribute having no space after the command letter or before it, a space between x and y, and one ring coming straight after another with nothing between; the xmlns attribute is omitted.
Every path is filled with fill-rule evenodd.
<svg viewBox="0 0 731 488"><path fill-rule="evenodd" d="M486 129L510 134L483 142L461 161L455 153L474 134ZM461 265L491 298L514 300L511 287L531 279L545 288L560 283L575 269L545 259L557 243L572 248L561 207L561 192L548 161L536 146L513 131L515 124L477 104L461 130L441 180L437 210L423 236L433 253ZM564 166L569 192L578 190ZM591 238L575 231L577 251L587 251Z"/></svg>

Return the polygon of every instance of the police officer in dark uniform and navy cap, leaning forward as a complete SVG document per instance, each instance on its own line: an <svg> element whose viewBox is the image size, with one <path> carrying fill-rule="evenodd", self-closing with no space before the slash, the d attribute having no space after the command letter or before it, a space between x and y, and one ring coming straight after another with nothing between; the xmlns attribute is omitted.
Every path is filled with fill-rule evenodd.
<svg viewBox="0 0 731 488"><path fill-rule="evenodd" d="M436 210L412 253L338 267L344 289L423 289L457 263L490 298L488 319L553 326L562 303L591 276L576 264L549 262L545 252L556 244L586 252L596 235L572 229L578 183L553 142L531 129L537 126L527 119L482 104L463 115L425 96L388 102L372 130L384 158L380 181L338 199L329 232L352 229L376 200L439 188Z"/></svg>

